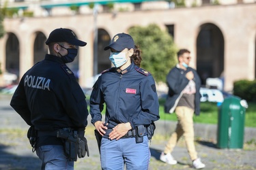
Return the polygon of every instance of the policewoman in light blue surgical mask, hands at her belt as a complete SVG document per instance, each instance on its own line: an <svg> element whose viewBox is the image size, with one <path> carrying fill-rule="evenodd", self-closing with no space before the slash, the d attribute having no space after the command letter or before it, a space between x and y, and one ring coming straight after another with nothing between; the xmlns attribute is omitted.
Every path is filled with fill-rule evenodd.
<svg viewBox="0 0 256 170"><path fill-rule="evenodd" d="M132 37L119 33L104 50L115 67L102 72L90 98L91 123L102 135L102 169L148 169L150 149L146 127L160 118L154 78L139 67L141 50ZM102 121L103 103L106 103Z"/></svg>

